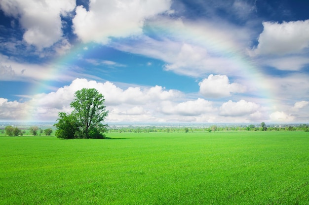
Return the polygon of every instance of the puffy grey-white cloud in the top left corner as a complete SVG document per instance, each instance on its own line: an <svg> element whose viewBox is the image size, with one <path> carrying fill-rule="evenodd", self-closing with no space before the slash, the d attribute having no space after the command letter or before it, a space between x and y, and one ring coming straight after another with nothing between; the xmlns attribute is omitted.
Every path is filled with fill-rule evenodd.
<svg viewBox="0 0 309 205"><path fill-rule="evenodd" d="M76 1L1 0L0 6L6 15L19 19L23 39L41 50L63 39L60 16L73 11Z"/></svg>

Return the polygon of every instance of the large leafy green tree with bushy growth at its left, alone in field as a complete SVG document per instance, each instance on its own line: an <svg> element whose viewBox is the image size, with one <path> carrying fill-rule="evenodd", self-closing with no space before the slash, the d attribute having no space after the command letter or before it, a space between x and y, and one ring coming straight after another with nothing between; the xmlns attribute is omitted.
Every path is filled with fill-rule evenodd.
<svg viewBox="0 0 309 205"><path fill-rule="evenodd" d="M103 124L108 116L105 109L104 96L95 88L82 88L75 92L74 101L71 102L73 112L69 115L58 113L58 138L104 138L107 124Z"/></svg>

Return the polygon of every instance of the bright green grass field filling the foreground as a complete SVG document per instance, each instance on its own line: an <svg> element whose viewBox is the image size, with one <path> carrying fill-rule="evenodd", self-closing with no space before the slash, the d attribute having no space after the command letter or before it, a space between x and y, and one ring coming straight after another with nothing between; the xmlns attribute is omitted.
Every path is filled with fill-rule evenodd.
<svg viewBox="0 0 309 205"><path fill-rule="evenodd" d="M309 132L108 137L0 137L0 204L309 204Z"/></svg>

